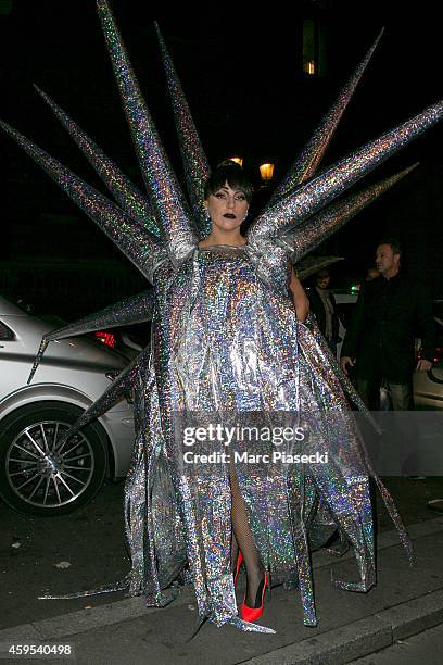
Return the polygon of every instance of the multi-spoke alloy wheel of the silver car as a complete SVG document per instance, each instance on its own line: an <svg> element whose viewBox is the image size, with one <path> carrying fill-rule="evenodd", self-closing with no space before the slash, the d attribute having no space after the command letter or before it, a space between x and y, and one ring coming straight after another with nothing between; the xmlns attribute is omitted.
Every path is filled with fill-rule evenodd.
<svg viewBox="0 0 443 665"><path fill-rule="evenodd" d="M60 444L83 411L72 404L40 402L0 423L0 495L29 515L71 513L90 501L106 472L106 442L90 424Z"/></svg>

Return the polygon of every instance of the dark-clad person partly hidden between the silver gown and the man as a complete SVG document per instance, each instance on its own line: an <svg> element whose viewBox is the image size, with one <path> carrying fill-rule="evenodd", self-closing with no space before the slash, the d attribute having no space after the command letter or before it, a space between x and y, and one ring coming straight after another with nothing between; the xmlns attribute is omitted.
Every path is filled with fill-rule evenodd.
<svg viewBox="0 0 443 665"><path fill-rule="evenodd" d="M313 285L306 290L311 311L315 314L318 327L332 353L337 353L339 337L339 316L336 299L329 291L330 275L322 268L314 275Z"/></svg>

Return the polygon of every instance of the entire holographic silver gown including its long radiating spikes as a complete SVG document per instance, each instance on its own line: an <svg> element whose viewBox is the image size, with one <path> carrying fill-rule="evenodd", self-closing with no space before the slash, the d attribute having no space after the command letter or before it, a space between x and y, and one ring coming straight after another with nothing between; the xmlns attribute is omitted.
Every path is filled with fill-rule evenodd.
<svg viewBox="0 0 443 665"><path fill-rule="evenodd" d="M201 620L271 631L238 616L230 573L229 465L183 465L177 427L188 414L198 414L202 424L215 418L229 425L236 419L280 425L289 414L309 432L300 451L327 454L328 463L251 465L240 460L236 474L271 580L299 585L304 623L315 625L309 550L321 545L334 528L343 542L352 544L360 575L359 581L336 580L336 585L367 591L375 584L371 475L409 559L412 551L349 411L350 401L363 412L365 406L315 322L296 321L288 293L288 266L292 263L299 276L306 277L330 262L319 258L304 263L320 242L414 166L341 195L439 122L443 103L316 173L380 34L252 222L246 246L198 249L199 240L210 233L204 208L210 167L166 45L159 30L188 199L160 140L109 2L97 0L97 5L147 193L41 90L114 200L0 122L153 285L43 336L28 379L45 362L50 341L152 316L151 348L130 363L65 437L104 413L128 389L134 391L136 443L125 486L131 570L121 584L94 592L129 588L130 594L144 593L148 604L161 606L172 600L168 588L179 578L193 584ZM269 452L270 443L262 443Z"/></svg>

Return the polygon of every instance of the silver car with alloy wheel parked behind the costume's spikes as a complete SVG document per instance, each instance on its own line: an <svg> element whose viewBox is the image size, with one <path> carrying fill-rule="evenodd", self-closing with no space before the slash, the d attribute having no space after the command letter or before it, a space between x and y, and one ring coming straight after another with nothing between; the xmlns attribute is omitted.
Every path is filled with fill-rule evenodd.
<svg viewBox="0 0 443 665"><path fill-rule="evenodd" d="M90 501L106 474L125 476L134 446L132 407L122 400L60 447L128 359L84 337L51 342L27 385L41 337L55 327L0 297L0 497L45 516Z"/></svg>

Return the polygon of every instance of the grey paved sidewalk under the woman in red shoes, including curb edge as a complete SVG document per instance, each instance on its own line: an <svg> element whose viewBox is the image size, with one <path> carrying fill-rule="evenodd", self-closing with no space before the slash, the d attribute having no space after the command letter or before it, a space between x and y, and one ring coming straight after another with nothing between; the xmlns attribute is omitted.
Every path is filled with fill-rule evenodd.
<svg viewBox="0 0 443 665"><path fill-rule="evenodd" d="M299 592L273 590L263 625L277 635L243 633L204 625L189 640L197 620L190 589L163 610L147 610L142 599L126 599L0 631L2 653L9 643L68 643L75 655L51 663L106 665L339 664L389 647L443 622L443 517L412 525L417 566L412 568L394 531L378 541L378 585L368 594L338 591L334 577L356 578L353 555L314 556L319 625L302 622ZM51 601L42 601L51 602ZM7 656L7 657L5 657ZM5 658L5 660L2 660Z"/></svg>

